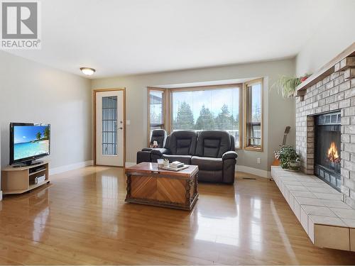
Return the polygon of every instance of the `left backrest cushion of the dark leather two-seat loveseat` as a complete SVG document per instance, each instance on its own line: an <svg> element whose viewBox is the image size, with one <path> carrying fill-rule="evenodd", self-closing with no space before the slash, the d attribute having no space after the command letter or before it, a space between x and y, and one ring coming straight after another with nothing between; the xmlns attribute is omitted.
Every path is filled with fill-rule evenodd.
<svg viewBox="0 0 355 266"><path fill-rule="evenodd" d="M172 155L194 155L197 142L195 131L174 131L166 147Z"/></svg>

